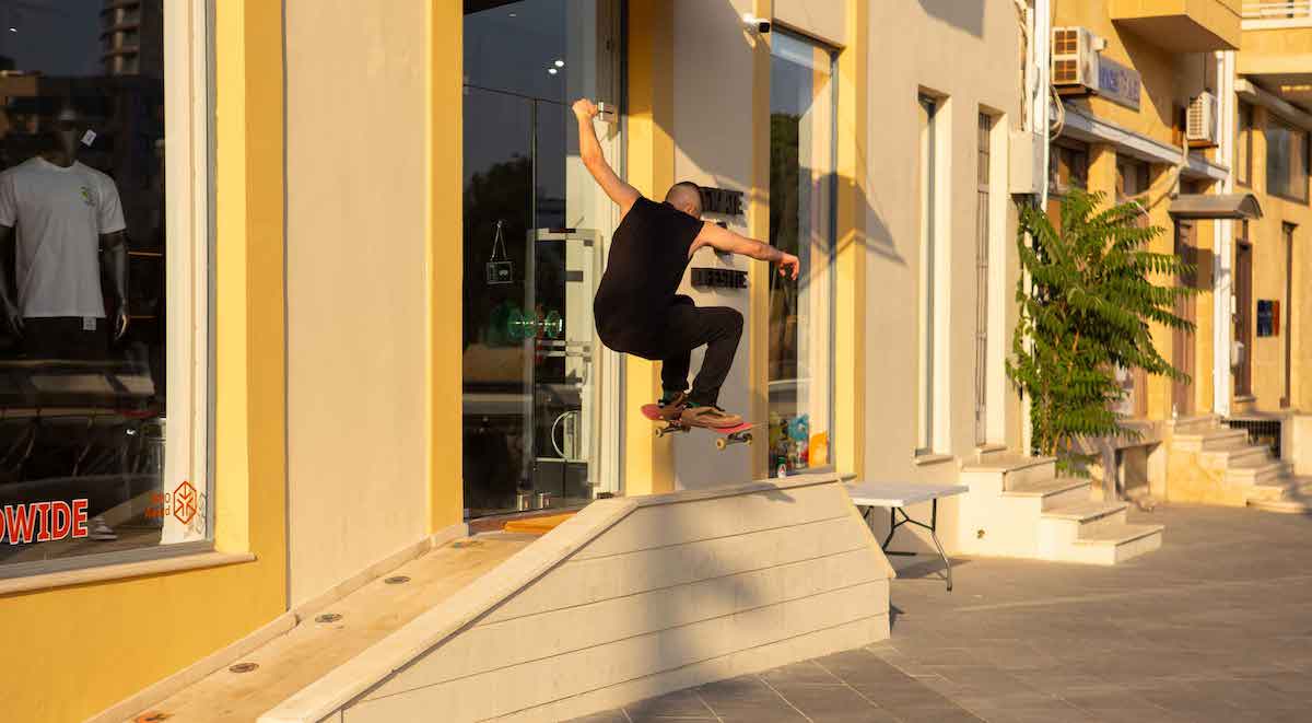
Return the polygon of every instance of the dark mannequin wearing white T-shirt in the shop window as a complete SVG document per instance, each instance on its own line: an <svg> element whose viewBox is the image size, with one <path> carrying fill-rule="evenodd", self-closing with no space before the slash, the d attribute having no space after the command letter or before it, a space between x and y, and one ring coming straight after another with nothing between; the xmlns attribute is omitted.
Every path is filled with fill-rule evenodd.
<svg viewBox="0 0 1312 723"><path fill-rule="evenodd" d="M31 358L104 358L109 335L127 331L123 211L114 181L77 161L79 121L63 110L47 150L0 173L0 312ZM102 274L115 306L109 327Z"/></svg>

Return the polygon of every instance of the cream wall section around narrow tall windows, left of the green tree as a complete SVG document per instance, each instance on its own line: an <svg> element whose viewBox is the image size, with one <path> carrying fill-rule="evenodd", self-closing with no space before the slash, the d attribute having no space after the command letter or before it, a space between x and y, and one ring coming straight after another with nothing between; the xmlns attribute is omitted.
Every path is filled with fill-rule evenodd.
<svg viewBox="0 0 1312 723"><path fill-rule="evenodd" d="M855 348L866 382L861 411L865 458L859 470L865 479L955 480L958 461L975 457L979 114L983 110L998 115L996 133L1008 134L1021 123L1023 55L1017 28L1010 1L869 5L867 122L858 129L867 151L863 159L867 192L859 198L865 234L855 236L858 262L865 264L867 274ZM953 62L942 62L946 56ZM951 455L928 465L918 465L914 458L921 408L918 307L925 294L920 93L939 98L935 139L939 373L934 383L941 399L935 404L941 433L934 451ZM994 176L993 193L1006 196L1005 176ZM1001 231L1001 248L1008 257L1014 257L1014 219L1009 218ZM1012 264L1008 257L992 257L991 268L1008 269ZM1014 268L1009 270L1014 273ZM1001 283L1004 299L1012 298L1014 281L1014 276L989 278L991 286ZM1002 324L994 324L988 333L1004 335L1009 342L1013 329L998 327ZM1001 360L992 358L989 363ZM838 399L844 394L837 390ZM997 403L1005 404L1002 399Z"/></svg>

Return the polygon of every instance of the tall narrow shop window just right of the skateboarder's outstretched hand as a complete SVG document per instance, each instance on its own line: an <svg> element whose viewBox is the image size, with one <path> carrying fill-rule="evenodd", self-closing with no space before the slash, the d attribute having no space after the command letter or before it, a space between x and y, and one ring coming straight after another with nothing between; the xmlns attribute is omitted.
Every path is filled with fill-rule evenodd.
<svg viewBox="0 0 1312 723"><path fill-rule="evenodd" d="M833 52L775 33L770 64L770 243L802 260L770 274L770 468L830 463Z"/></svg>

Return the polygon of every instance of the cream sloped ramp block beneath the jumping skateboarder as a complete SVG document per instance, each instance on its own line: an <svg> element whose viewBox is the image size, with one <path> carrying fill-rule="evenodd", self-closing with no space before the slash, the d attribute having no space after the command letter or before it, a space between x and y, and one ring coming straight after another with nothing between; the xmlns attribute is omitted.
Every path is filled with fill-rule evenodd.
<svg viewBox="0 0 1312 723"><path fill-rule="evenodd" d="M262 723L562 720L888 636L836 476L598 500Z"/></svg>

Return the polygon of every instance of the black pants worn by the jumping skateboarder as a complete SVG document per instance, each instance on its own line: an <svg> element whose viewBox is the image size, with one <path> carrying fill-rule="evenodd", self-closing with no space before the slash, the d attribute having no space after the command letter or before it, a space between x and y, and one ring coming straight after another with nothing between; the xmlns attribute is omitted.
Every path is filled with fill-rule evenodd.
<svg viewBox="0 0 1312 723"><path fill-rule="evenodd" d="M687 388L693 349L706 345L706 358L693 379L689 396L698 404L715 404L724 378L733 366L733 353L737 352L741 337L743 315L737 310L726 306L698 307L693 299L680 295L668 310L665 327L653 340L653 348L638 356L660 360L661 387L666 392L676 392Z"/></svg>

